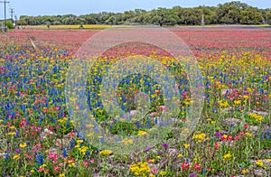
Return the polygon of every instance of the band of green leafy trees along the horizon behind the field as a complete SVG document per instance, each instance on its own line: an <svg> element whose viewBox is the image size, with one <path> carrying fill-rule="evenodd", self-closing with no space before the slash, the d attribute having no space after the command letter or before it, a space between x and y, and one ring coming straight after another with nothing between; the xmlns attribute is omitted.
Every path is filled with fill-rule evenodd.
<svg viewBox="0 0 271 177"><path fill-rule="evenodd" d="M203 18L202 18L203 14ZM204 19L204 20L202 20ZM200 24L271 24L271 8L259 9L233 1L217 6L185 8L157 8L151 11L135 9L124 13L101 12L98 14L65 15L21 15L18 25L60 24L157 24L200 25Z"/></svg>

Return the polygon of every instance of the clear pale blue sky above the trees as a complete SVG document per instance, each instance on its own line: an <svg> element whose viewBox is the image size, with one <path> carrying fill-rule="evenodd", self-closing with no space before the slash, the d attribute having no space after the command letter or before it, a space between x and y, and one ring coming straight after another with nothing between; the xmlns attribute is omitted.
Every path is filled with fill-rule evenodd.
<svg viewBox="0 0 271 177"><path fill-rule="evenodd" d="M193 7L199 5L216 6L230 0L8 0L7 11L13 7L15 14L89 14L102 11L124 12L142 8L151 10L157 7L170 8L176 5ZM242 3L259 8L271 8L271 0L240 0ZM10 14L7 13L9 17ZM4 5L0 4L0 19L4 18Z"/></svg>

